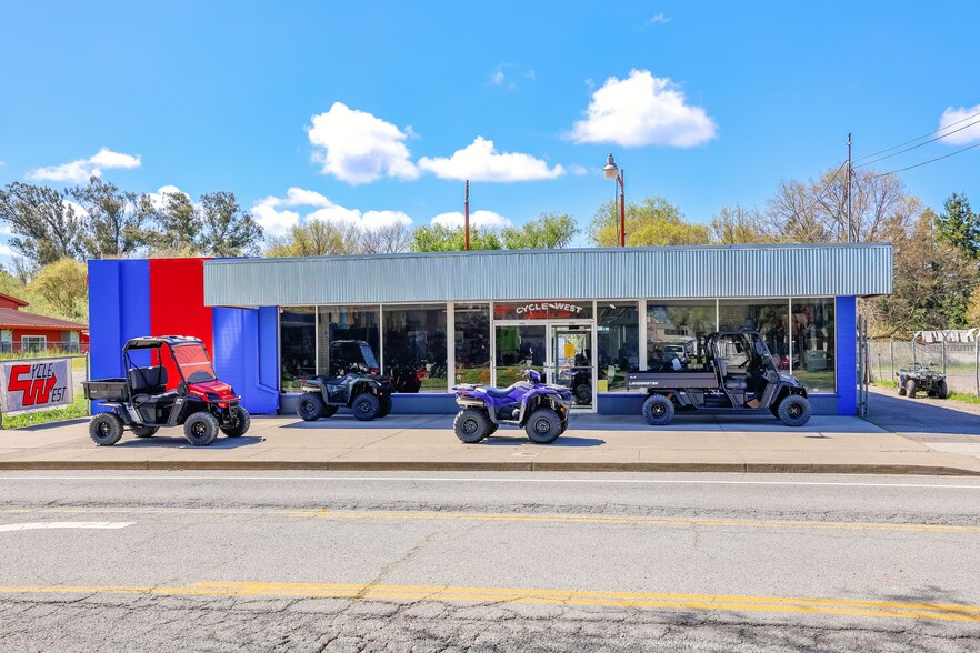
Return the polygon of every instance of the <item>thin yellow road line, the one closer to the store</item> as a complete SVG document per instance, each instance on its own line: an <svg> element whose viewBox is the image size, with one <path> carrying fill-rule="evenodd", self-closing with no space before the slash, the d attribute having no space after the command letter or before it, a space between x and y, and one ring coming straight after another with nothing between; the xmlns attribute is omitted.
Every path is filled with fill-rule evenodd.
<svg viewBox="0 0 980 653"><path fill-rule="evenodd" d="M394 521L466 521L466 522L529 522L573 524L627 524L641 526L713 526L743 529L816 529L831 531L899 531L927 533L980 533L980 525L900 524L874 522L818 522L802 520L724 520L698 518L648 518L597 514L524 514L479 512L410 512L410 511L344 511L344 510L267 510L267 509L181 509L181 508L10 508L3 514L191 514L191 515L284 515L298 519L326 520L394 520Z"/></svg>

